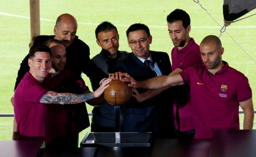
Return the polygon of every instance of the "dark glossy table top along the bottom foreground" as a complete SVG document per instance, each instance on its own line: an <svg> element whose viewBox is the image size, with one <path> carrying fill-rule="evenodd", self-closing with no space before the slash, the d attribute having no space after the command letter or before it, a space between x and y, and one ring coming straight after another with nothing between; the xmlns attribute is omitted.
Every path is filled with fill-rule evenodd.
<svg viewBox="0 0 256 157"><path fill-rule="evenodd" d="M212 139L156 139L150 147L40 149L44 141L0 141L1 157L255 157L256 130L214 131Z"/></svg>

